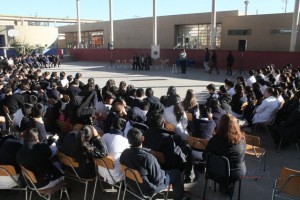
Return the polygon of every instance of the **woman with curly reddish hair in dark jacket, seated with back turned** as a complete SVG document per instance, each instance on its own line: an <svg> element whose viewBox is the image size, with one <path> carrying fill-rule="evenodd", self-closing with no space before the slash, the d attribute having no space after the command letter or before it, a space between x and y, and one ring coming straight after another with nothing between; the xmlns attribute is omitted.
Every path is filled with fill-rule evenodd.
<svg viewBox="0 0 300 200"><path fill-rule="evenodd" d="M246 140L237 119L231 114L222 116L216 134L209 140L203 153L206 160L208 153L225 156L230 163L230 181L234 183L246 175L245 165ZM220 190L228 192L232 185L220 184Z"/></svg>

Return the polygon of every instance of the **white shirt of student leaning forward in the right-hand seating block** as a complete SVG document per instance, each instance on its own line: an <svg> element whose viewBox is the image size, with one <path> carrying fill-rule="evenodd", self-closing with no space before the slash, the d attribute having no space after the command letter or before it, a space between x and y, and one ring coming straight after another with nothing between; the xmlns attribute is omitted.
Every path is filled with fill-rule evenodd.
<svg viewBox="0 0 300 200"><path fill-rule="evenodd" d="M256 113L253 116L252 122L268 122L272 119L274 111L279 108L278 100L270 96L262 101L262 103L256 108Z"/></svg>

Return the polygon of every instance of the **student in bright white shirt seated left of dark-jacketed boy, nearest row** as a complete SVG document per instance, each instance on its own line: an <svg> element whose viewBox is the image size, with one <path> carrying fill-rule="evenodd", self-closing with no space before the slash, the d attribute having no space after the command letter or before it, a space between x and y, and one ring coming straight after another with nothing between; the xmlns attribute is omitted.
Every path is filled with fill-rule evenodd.
<svg viewBox="0 0 300 200"><path fill-rule="evenodd" d="M121 153L129 148L129 143L127 138L124 137L123 129L125 127L125 119L117 117L113 119L112 129L109 133L106 133L102 136L102 140L107 146L108 156L112 157L114 160L114 169L110 169L110 175L107 172L107 169L103 167L98 167L98 172L104 177L104 180L107 180L110 184L119 182L124 179L124 173L121 171L120 156Z"/></svg>

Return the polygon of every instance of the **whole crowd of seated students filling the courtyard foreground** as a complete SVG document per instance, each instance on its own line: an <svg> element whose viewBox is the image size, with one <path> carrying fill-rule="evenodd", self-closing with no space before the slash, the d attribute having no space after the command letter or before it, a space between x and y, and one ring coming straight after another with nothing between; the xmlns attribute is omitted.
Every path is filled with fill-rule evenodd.
<svg viewBox="0 0 300 200"><path fill-rule="evenodd" d="M0 164L13 165L18 173L22 164L33 171L38 187L44 189L64 178L58 151L79 162L76 170L81 177L100 173L112 182L101 167L95 172L93 162L93 158L109 155L115 161L111 170L115 180L124 179L124 164L141 173L145 194L172 183L174 199L188 199L184 183L197 179L193 156L224 155L237 169L232 182L245 175L245 137L237 119L252 127L271 120L276 111L276 120L283 122L280 126L285 131L274 132L275 142L281 137L286 142L300 138L300 69L285 66L278 70L270 65L250 70L249 75L246 80L237 77L236 83L226 79L219 91L209 84L210 97L199 105L191 89L181 99L170 86L166 95L158 98L152 88L135 88L124 81L117 86L109 79L100 88L93 78L83 83L80 73L74 77L63 71L50 74L21 60L3 62ZM189 135L209 139L203 156L187 144ZM149 149L161 152L165 162L159 163ZM222 188L227 192L230 185Z"/></svg>

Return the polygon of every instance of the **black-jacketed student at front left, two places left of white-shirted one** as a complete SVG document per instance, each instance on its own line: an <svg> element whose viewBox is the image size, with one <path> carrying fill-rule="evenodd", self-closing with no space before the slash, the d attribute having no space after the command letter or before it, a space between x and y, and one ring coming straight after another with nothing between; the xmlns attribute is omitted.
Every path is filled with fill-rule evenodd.
<svg viewBox="0 0 300 200"><path fill-rule="evenodd" d="M37 179L38 189L53 187L64 179L56 152L47 144L40 143L36 128L28 129L23 134L24 146L17 153L17 162L32 171Z"/></svg>

